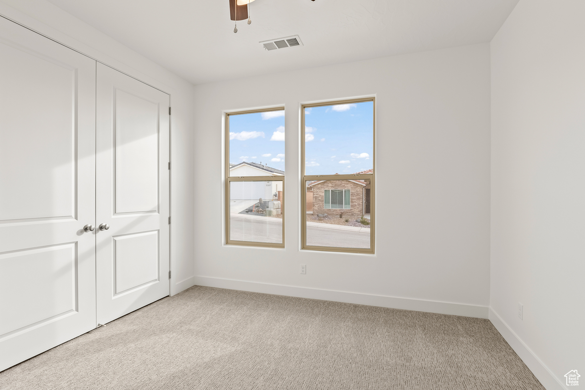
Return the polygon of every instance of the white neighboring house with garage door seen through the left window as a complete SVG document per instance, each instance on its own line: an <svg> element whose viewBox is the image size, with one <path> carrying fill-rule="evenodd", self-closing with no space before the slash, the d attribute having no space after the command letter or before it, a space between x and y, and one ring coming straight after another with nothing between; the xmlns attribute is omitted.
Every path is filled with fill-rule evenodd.
<svg viewBox="0 0 585 390"><path fill-rule="evenodd" d="M234 176L284 176L284 172L276 168L257 163L229 164L229 175ZM230 185L231 199L259 199L282 201L282 181L241 181Z"/></svg>

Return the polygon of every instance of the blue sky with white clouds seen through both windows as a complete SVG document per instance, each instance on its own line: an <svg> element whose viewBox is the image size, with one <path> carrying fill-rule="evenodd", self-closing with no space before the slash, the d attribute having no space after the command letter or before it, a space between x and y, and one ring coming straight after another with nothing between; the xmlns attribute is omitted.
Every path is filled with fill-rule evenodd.
<svg viewBox="0 0 585 390"><path fill-rule="evenodd" d="M373 102L305 109L307 175L349 174L372 167ZM229 161L284 171L284 111L229 116Z"/></svg>

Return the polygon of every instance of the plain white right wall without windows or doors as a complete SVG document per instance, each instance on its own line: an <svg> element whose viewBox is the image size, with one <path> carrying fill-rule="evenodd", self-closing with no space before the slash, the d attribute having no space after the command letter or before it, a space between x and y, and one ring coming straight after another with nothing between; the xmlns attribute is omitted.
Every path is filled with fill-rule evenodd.
<svg viewBox="0 0 585 390"><path fill-rule="evenodd" d="M584 15L522 0L491 42L490 319L548 389L585 382Z"/></svg>

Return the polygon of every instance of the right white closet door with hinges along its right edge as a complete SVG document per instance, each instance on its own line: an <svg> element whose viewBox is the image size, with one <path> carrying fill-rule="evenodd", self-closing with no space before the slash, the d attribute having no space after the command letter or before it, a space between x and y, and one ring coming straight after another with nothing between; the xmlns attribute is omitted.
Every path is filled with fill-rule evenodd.
<svg viewBox="0 0 585 390"><path fill-rule="evenodd" d="M168 295L168 95L97 64L97 320Z"/></svg>

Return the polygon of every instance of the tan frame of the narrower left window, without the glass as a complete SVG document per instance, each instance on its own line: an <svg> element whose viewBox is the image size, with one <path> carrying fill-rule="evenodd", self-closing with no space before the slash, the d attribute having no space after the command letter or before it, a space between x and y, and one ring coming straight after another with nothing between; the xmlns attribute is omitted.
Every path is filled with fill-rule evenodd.
<svg viewBox="0 0 585 390"><path fill-rule="evenodd" d="M281 208L281 213L283 215L283 243L261 243L255 241L238 241L238 240L230 240L229 232L230 232L230 183L232 181L282 181L283 182L283 205L284 206L284 176L236 176L230 177L229 176L229 116L230 115L242 115L242 114L249 114L249 113L259 113L259 112L267 112L267 111L282 111L284 107L276 107L276 108L266 108L260 110L248 110L248 111L238 111L238 112L226 112L225 114L225 240L226 245L243 245L243 246L253 246L253 247L269 247L269 248L284 248L284 207Z"/></svg>

